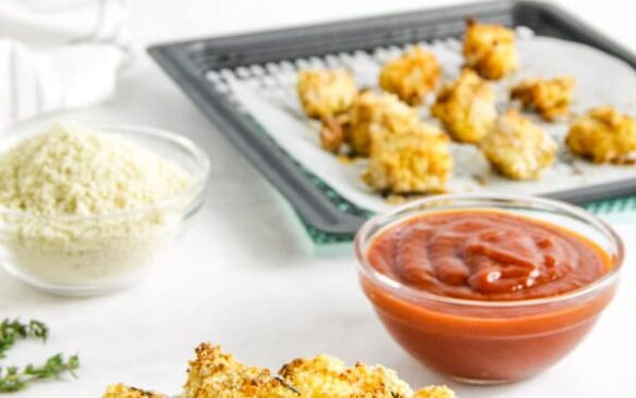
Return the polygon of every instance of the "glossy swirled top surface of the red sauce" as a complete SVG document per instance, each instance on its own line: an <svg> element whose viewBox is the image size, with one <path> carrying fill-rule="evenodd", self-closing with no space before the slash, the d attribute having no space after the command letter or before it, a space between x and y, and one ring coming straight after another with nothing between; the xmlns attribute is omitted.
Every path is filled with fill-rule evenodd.
<svg viewBox="0 0 636 398"><path fill-rule="evenodd" d="M547 222L498 211L448 211L409 219L379 235L370 264L404 285L475 300L550 297L609 271L604 251Z"/></svg>

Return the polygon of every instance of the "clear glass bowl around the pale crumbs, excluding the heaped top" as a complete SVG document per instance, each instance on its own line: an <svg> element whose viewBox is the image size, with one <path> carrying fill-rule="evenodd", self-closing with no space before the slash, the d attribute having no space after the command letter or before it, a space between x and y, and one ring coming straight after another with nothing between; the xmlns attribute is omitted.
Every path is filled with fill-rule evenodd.
<svg viewBox="0 0 636 398"><path fill-rule="evenodd" d="M200 208L209 160L193 141L164 130L86 124L121 136L166 159L192 176L179 196L131 211L99 215L36 215L0 210L0 261L23 282L58 295L109 293L139 281ZM5 151L36 134L0 140Z"/></svg>

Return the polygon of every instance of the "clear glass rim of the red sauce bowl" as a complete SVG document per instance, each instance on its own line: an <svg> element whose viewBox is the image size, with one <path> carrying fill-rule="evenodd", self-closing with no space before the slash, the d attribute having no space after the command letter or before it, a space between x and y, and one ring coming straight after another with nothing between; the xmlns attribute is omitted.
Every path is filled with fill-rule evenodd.
<svg viewBox="0 0 636 398"><path fill-rule="evenodd" d="M404 220L417 216L417 214L409 214L403 217L399 217L388 225L379 228L376 233L370 235L371 229L381 224L383 221L390 220L400 213L408 212L417 208L423 207L423 204L429 204L436 201L443 200L490 200L490 201L522 201L531 202L543 207L543 209L549 208L548 211L552 213L561 213L562 215L573 216L574 219L579 219L579 221L587 222L595 229L602 233L609 238L611 244L615 248L615 253L610 254L613 260L612 269L602 275L600 278L594 281L592 283L580 287L578 289L567 291L556 296L540 297L534 299L521 299L521 300L477 300L477 299L465 299L456 297L448 297L442 295L437 295L427 290L417 289L394 279L380 271L376 270L370 262L367 260L366 252L368 247L372 244L374 239L377 238L379 233L386 232L388 228L395 226ZM475 206L475 209L477 206ZM466 210L470 210L467 207ZM435 212L432 210L431 212ZM545 222L545 221L543 221ZM599 219L598 216L585 211L582 208L575 207L573 204L565 203L563 201L538 198L527 195L516 195L516 194L448 194L438 195L429 198L418 199L413 202L396 207L388 212L383 212L374 215L371 219L367 220L363 226L358 229L354 239L354 251L357 258L357 269L362 277L370 278L370 281L380 287L388 289L399 297L403 297L413 301L413 299L421 301L429 301L443 304L462 306L470 308L518 308L518 307L535 307L535 306L546 306L552 303L568 302L571 300L576 300L582 297L586 297L590 294L598 291L599 289L611 285L615 278L617 278L620 270L622 269L623 261L625 259L625 247L623 239L619 234L612 228L608 223Z"/></svg>

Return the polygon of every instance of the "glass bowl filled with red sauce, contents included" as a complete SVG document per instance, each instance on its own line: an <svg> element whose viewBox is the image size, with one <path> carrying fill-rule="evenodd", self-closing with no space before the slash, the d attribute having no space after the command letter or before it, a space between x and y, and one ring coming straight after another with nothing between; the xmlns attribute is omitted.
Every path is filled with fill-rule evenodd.
<svg viewBox="0 0 636 398"><path fill-rule="evenodd" d="M472 384L529 378L565 357L611 301L624 258L598 217L516 195L411 202L370 219L355 251L395 340Z"/></svg>

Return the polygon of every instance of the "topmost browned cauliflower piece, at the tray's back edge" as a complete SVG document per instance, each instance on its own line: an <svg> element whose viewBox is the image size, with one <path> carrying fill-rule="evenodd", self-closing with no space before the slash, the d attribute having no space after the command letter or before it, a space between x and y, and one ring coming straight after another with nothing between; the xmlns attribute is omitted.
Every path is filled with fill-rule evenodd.
<svg viewBox="0 0 636 398"><path fill-rule="evenodd" d="M498 80L518 67L514 32L501 25L466 20L463 53L465 65L490 80Z"/></svg>

